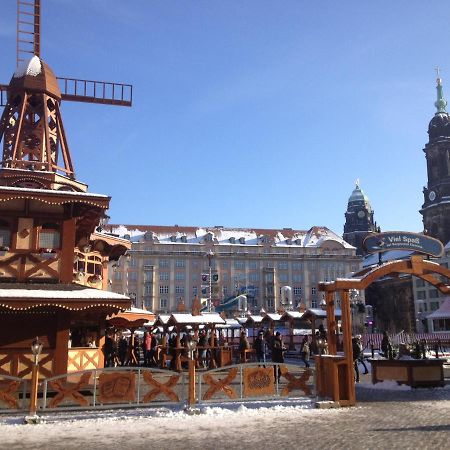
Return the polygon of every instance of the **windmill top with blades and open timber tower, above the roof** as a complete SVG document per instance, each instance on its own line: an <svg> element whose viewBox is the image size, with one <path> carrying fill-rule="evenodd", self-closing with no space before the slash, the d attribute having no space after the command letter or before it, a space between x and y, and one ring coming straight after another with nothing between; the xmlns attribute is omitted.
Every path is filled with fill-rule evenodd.
<svg viewBox="0 0 450 450"><path fill-rule="evenodd" d="M75 172L61 117L62 100L131 106L132 86L56 77L41 59L41 0L17 1L17 64L0 85L4 169Z"/></svg>

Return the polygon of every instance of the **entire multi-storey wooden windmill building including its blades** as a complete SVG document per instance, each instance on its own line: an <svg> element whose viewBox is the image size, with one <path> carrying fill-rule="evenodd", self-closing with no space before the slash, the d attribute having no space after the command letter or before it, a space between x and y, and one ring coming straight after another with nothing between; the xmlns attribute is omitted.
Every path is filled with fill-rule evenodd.
<svg viewBox="0 0 450 450"><path fill-rule="evenodd" d="M0 85L0 376L30 376L36 336L50 376L102 367L105 319L131 306L106 291L130 244L97 230L110 197L75 178L60 104L131 106L131 86L56 77L40 58L41 1L17 11L17 68Z"/></svg>

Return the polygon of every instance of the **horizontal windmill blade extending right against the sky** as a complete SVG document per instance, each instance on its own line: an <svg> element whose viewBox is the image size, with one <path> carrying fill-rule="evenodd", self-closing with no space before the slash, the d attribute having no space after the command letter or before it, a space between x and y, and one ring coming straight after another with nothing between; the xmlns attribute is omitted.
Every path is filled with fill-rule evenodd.
<svg viewBox="0 0 450 450"><path fill-rule="evenodd" d="M132 104L133 86L131 84L63 77L57 77L57 79L63 100L116 106Z"/></svg>

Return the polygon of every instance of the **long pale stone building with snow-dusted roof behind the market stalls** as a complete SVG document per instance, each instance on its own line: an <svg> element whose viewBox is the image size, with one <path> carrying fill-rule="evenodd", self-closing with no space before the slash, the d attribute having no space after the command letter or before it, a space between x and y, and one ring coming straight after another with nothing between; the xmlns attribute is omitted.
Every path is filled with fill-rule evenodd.
<svg viewBox="0 0 450 450"><path fill-rule="evenodd" d="M155 312L189 308L195 297L217 305L246 294L250 311L283 306L289 286L292 306L318 307L319 281L359 270L350 244L326 227L243 229L108 225L132 242L129 258L110 273L111 289L127 292L138 307Z"/></svg>

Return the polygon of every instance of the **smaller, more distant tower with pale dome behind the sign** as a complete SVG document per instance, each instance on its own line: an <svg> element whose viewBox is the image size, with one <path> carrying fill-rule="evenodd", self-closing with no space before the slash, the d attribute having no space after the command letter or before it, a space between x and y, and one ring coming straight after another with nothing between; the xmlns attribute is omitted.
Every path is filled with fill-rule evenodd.
<svg viewBox="0 0 450 450"><path fill-rule="evenodd" d="M364 255L362 243L364 238L372 232L377 231L377 224L373 221L373 210L369 198L356 181L356 187L348 199L347 211L345 213L344 235L345 241L356 247L357 255Z"/></svg>

